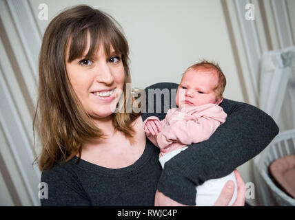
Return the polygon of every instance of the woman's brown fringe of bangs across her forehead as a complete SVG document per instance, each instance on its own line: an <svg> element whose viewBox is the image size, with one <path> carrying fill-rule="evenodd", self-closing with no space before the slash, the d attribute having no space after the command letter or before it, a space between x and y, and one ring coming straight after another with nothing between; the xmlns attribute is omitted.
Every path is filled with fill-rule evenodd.
<svg viewBox="0 0 295 220"><path fill-rule="evenodd" d="M110 21L91 23L87 27L81 28L77 25L72 33L71 38L68 40L70 43L70 50L68 54L68 63L71 63L77 58L94 58L99 51L99 47L103 47L106 56L111 55L111 47L113 47L116 54L122 56L124 62L128 57L128 43L125 36L117 30L113 23ZM89 22L89 21L88 21ZM90 47L87 50L88 38L90 39ZM125 62L124 62L125 63Z"/></svg>

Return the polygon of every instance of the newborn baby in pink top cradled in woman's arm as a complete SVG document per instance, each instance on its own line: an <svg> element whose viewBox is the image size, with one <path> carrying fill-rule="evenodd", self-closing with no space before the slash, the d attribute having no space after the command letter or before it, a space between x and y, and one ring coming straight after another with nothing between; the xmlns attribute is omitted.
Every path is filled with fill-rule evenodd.
<svg viewBox="0 0 295 220"><path fill-rule="evenodd" d="M218 65L203 61L189 67L177 89L178 108L169 109L164 120L154 116L143 122L148 139L161 150L159 162L165 162L184 151L187 145L210 138L227 114L218 106L223 101L225 76ZM210 179L196 187L196 206L213 206L228 180L235 190L229 206L236 200L234 172L220 179Z"/></svg>

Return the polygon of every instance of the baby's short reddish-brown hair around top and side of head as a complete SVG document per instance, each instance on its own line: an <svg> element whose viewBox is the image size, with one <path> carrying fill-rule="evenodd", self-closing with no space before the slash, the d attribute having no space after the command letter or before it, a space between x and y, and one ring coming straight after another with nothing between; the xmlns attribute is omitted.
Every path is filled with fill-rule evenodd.
<svg viewBox="0 0 295 220"><path fill-rule="evenodd" d="M224 91L225 85L226 85L226 78L221 70L221 67L219 67L218 63L215 63L214 61L210 62L210 61L202 60L199 63L196 63L196 64L188 67L185 70L185 73L189 69L196 70L196 69L200 69L200 68L207 69L210 72L215 72L217 74L218 83L217 83L217 86L214 88L214 91L216 93L216 100L218 100L219 98L221 98L223 96L223 91Z"/></svg>

